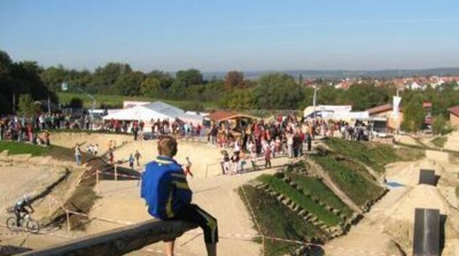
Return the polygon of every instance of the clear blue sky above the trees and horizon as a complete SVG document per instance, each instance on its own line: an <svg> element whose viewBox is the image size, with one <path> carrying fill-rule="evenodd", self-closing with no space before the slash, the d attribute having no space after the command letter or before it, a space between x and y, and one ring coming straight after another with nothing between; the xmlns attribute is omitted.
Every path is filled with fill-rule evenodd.
<svg viewBox="0 0 459 256"><path fill-rule="evenodd" d="M90 70L459 66L458 10L457 0L0 0L0 49Z"/></svg>

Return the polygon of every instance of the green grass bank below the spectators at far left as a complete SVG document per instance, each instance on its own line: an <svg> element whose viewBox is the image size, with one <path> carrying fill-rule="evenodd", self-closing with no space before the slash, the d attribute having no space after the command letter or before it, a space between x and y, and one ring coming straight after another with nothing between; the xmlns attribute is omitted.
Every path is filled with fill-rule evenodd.
<svg viewBox="0 0 459 256"><path fill-rule="evenodd" d="M38 146L25 142L0 141L0 152L8 151L8 155L30 154L36 156L51 156L55 159L73 160L73 150L62 146Z"/></svg>

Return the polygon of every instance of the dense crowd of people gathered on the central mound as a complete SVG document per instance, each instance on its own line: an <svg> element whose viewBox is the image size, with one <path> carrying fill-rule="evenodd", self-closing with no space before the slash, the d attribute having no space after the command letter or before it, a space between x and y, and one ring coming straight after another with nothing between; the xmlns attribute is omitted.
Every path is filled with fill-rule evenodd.
<svg viewBox="0 0 459 256"><path fill-rule="evenodd" d="M294 115L279 115L271 120L256 120L240 129L234 135L236 127L229 123L212 125L208 133L208 142L225 149L233 148L232 154L222 151L221 168L224 175L238 174L247 168L257 170L258 157L264 159L264 167L271 168L271 159L276 155L289 158L301 157L312 150L312 140L316 136L341 136L345 140L369 140L371 126L356 121L353 125L345 121L307 120ZM306 151L304 147L306 146Z"/></svg>

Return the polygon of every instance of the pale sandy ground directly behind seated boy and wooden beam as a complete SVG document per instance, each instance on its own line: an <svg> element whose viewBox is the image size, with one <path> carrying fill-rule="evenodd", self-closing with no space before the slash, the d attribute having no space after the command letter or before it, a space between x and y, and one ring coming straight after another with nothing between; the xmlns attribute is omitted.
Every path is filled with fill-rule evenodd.
<svg viewBox="0 0 459 256"><path fill-rule="evenodd" d="M278 159L280 162L287 159ZM219 221L219 255L259 255L260 244L243 241L238 235L256 235L251 218L245 205L240 200L236 188L243 183L271 170L248 172L243 175L195 177L188 179L194 191L193 202L214 215ZM140 222L151 218L146 212L145 203L139 198L140 188L137 181L102 181L96 191L102 196L91 211L91 216L112 218L123 222ZM88 225L88 233L97 233L121 225L95 221ZM177 253L180 255L205 255L202 235L199 229L184 234L177 240ZM227 238L231 237L231 238ZM162 250L162 243L147 246L153 251ZM145 253L145 252L143 252ZM136 252L134 254L142 254Z"/></svg>

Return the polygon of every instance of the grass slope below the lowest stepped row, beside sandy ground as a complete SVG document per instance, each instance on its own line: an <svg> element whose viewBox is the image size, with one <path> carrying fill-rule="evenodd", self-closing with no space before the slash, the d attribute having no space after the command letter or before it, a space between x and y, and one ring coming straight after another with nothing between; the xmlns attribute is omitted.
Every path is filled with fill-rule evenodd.
<svg viewBox="0 0 459 256"><path fill-rule="evenodd" d="M253 209L256 220L265 236L289 240L325 237L325 234L320 229L297 216L282 203L277 202L273 196L269 196L269 194L254 188L252 185L243 185L243 187L249 202L247 202L242 188L238 189L238 194L246 205L251 205L251 209ZM248 210L250 211L250 209ZM258 229L257 227L254 228ZM297 247L297 244L265 240L264 255L285 255Z"/></svg>

